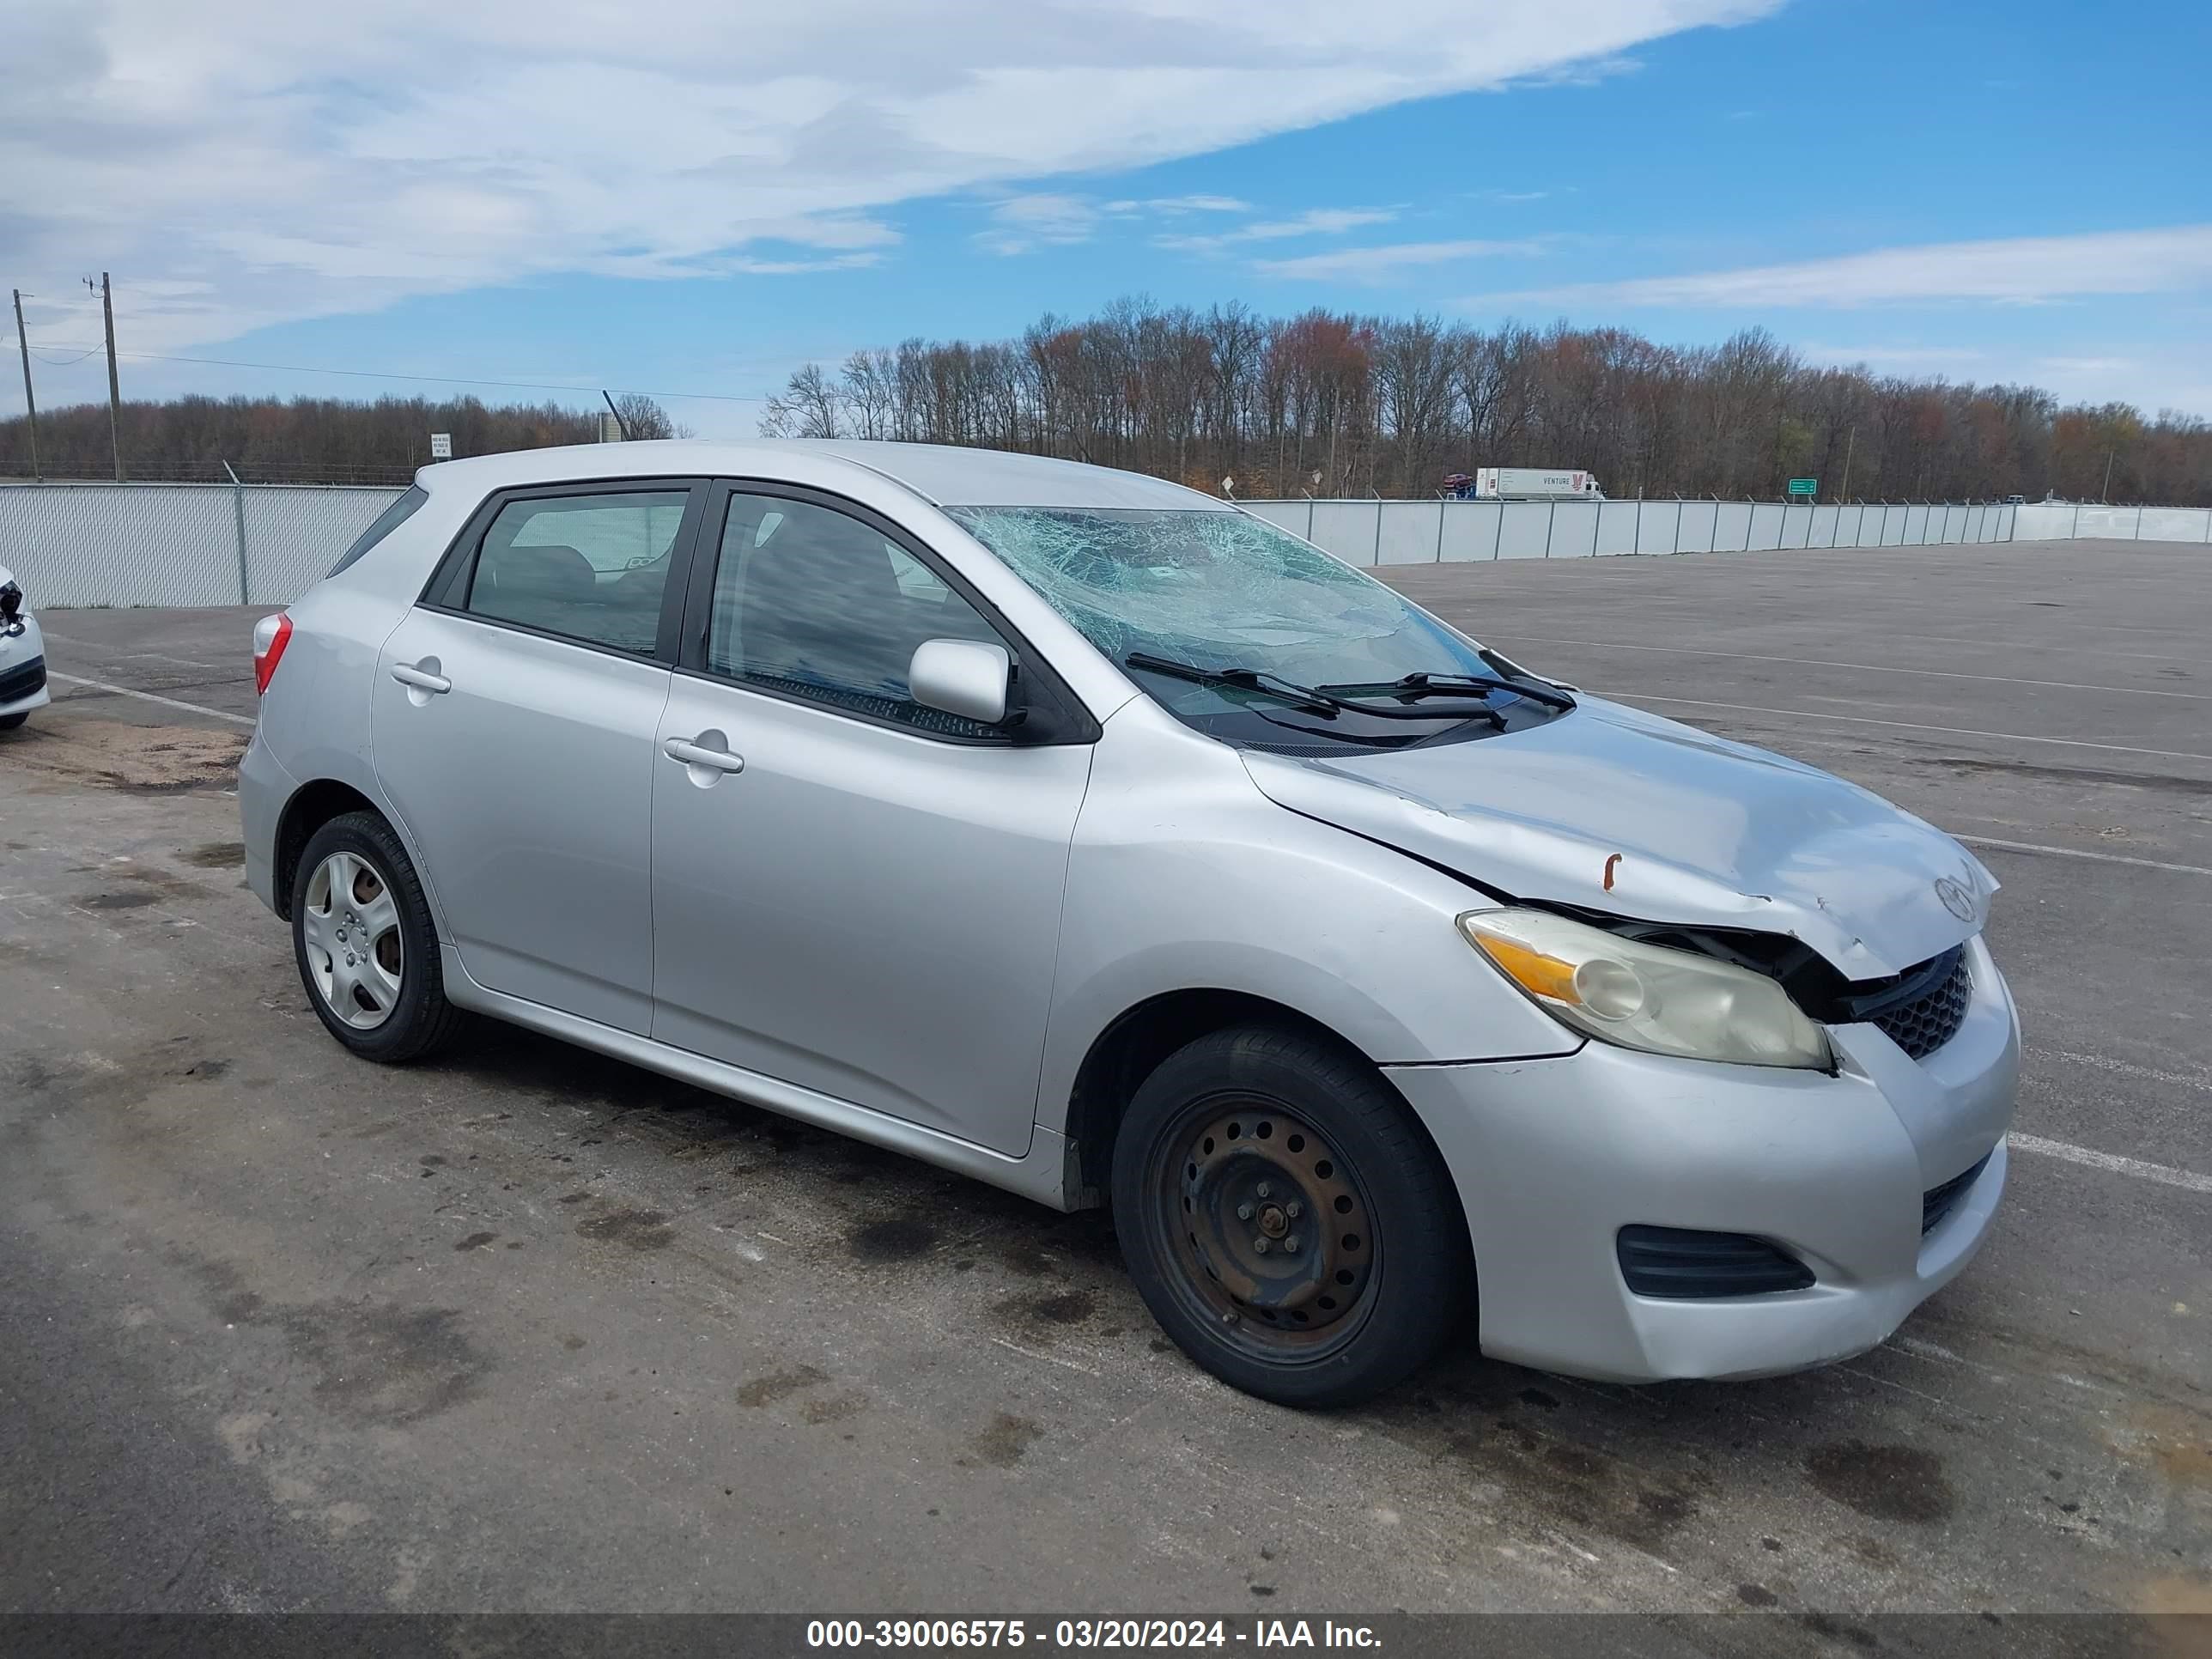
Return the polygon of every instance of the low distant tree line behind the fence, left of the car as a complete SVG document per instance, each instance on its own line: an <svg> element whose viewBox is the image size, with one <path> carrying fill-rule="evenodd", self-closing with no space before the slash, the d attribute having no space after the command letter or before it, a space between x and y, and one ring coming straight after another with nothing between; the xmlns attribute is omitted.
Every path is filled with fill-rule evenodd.
<svg viewBox="0 0 2212 1659"><path fill-rule="evenodd" d="M659 403L615 398L633 438L681 438ZM429 462L429 436L453 436L456 456L588 445L591 409L557 403L487 405L478 398L175 398L124 403L115 422L124 476L223 482L228 462L246 482L403 484ZM113 478L108 407L77 403L38 411L38 462L46 478ZM0 478L31 476L31 425L0 420Z"/></svg>

